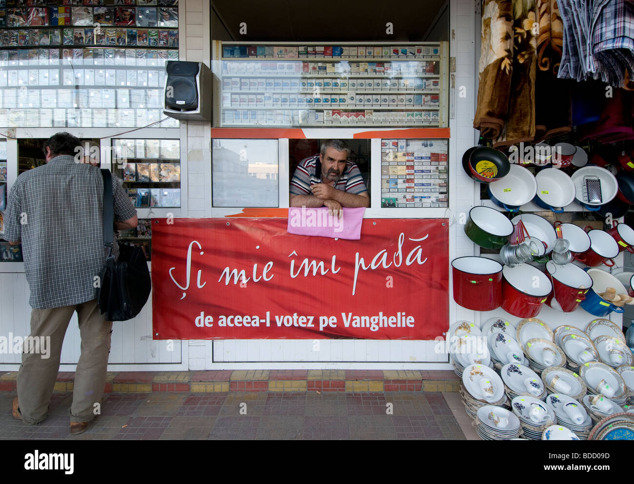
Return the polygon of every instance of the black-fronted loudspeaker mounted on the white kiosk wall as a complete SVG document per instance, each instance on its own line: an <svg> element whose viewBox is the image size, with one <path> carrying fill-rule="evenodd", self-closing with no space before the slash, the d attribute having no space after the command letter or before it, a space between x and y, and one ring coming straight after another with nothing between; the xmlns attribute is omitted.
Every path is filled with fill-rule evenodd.
<svg viewBox="0 0 634 484"><path fill-rule="evenodd" d="M176 119L211 120L211 71L202 62L167 61L165 108Z"/></svg>

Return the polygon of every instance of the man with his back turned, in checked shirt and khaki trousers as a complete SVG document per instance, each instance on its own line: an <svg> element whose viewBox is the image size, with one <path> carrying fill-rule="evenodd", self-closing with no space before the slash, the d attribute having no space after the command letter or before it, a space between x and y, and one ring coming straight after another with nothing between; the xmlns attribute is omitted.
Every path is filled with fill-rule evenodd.
<svg viewBox="0 0 634 484"><path fill-rule="evenodd" d="M43 421L60 367L61 345L74 312L79 319L81 356L75 371L70 433L82 433L101 402L110 352L112 321L100 314L96 287L105 265L103 178L97 167L75 158L82 144L68 133L44 143L46 165L23 172L9 194L4 238L22 242L32 312L30 336L49 338L48 359L22 354L13 417ZM81 151L80 151L81 153ZM112 177L117 229L136 227L136 210ZM116 244L115 256L119 255Z"/></svg>

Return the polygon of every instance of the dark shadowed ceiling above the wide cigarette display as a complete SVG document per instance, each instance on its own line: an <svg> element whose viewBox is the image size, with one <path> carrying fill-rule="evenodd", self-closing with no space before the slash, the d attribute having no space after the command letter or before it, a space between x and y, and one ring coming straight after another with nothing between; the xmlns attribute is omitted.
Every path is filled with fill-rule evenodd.
<svg viewBox="0 0 634 484"><path fill-rule="evenodd" d="M217 13L230 37L212 35L226 41L424 41L446 4L447 0L213 0L212 15ZM240 34L242 22L247 35ZM385 32L387 22L394 25L392 35Z"/></svg>

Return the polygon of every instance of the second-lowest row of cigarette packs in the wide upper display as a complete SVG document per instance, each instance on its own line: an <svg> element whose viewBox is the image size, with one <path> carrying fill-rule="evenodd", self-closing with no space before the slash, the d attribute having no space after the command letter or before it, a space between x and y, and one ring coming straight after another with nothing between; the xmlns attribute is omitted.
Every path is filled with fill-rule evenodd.
<svg viewBox="0 0 634 484"><path fill-rule="evenodd" d="M337 107L359 108L438 108L437 94L359 94L356 92L325 94L313 96L311 94L280 94L279 92L265 92L264 94L229 94L222 95L223 108L285 108L306 106L310 109Z"/></svg>

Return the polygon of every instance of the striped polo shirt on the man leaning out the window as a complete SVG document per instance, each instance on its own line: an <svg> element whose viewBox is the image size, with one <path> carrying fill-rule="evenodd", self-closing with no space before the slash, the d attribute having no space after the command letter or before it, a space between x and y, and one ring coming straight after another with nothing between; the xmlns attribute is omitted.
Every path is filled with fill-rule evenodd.
<svg viewBox="0 0 634 484"><path fill-rule="evenodd" d="M306 158L306 160L302 160L297 165L293 179L290 181L290 193L294 195L312 194L311 186L316 183L322 183L319 155ZM361 177L359 167L351 160L347 160L346 171L344 171L344 174L341 175L333 188L355 195L368 191Z"/></svg>

